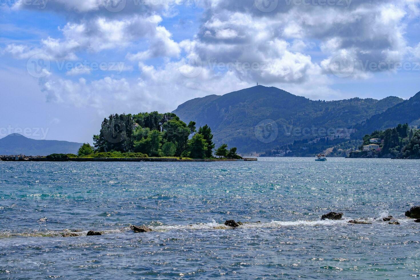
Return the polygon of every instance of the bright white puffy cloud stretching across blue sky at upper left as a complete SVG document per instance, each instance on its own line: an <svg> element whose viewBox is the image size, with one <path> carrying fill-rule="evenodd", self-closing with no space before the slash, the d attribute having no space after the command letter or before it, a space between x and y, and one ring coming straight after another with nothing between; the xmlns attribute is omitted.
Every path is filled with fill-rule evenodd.
<svg viewBox="0 0 420 280"><path fill-rule="evenodd" d="M162 18L153 16L131 16L121 20L98 17L80 23L67 23L62 29L63 39L48 37L42 39L40 47L10 44L5 52L15 58L26 59L34 54L44 53L51 60L78 60L76 53L88 50L101 52L103 50L125 49L133 47L141 39L147 39L150 44L144 53L147 58L168 56L177 57L180 49L165 27L159 26Z"/></svg>

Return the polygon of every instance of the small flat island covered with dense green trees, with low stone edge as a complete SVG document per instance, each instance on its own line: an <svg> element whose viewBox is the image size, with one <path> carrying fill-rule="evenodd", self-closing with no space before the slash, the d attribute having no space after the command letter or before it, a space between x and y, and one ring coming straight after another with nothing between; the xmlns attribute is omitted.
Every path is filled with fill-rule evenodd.
<svg viewBox="0 0 420 280"><path fill-rule="evenodd" d="M50 154L47 157L10 156L13 161L72 162L197 162L255 161L242 158L236 147L222 144L215 150L213 134L207 125L187 125L173 113L158 112L113 114L102 121L99 134L93 136L94 146L84 143L77 154ZM0 159L2 160L2 159Z"/></svg>

